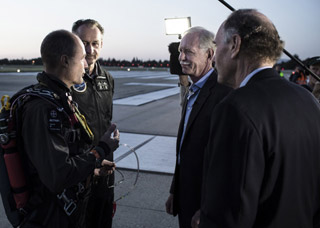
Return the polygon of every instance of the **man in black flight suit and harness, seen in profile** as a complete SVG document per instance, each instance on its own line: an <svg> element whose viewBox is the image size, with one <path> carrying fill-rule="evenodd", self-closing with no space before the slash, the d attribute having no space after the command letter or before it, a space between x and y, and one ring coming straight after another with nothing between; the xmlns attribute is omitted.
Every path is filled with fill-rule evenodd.
<svg viewBox="0 0 320 228"><path fill-rule="evenodd" d="M98 139L98 146L79 149L79 142L90 134L70 96L87 66L77 36L65 30L50 33L41 44L41 57L44 72L38 75L39 83L26 90L19 110L17 145L23 147L30 189L21 227L82 227L81 196L89 189L87 178L102 174L96 165L113 165L102 159L118 147L118 131L113 126ZM70 202L75 202L75 211L66 209Z"/></svg>

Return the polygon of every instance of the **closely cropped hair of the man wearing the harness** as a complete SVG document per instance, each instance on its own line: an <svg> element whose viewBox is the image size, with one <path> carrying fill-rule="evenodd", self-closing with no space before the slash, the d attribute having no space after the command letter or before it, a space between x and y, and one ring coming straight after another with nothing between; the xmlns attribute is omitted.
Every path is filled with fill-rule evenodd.
<svg viewBox="0 0 320 228"><path fill-rule="evenodd" d="M49 33L41 43L41 58L45 66L57 67L62 55L74 57L76 37L69 31L57 30Z"/></svg>

